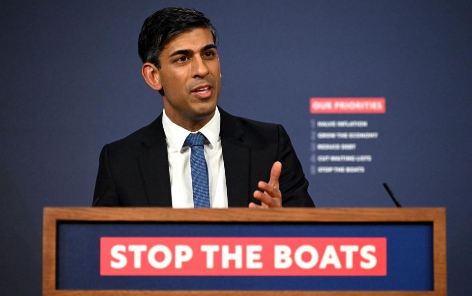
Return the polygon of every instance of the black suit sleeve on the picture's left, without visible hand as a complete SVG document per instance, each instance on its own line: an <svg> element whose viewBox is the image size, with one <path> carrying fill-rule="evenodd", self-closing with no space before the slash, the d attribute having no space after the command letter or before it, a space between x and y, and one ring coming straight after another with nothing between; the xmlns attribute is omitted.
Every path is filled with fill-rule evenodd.
<svg viewBox="0 0 472 296"><path fill-rule="evenodd" d="M95 192L92 206L121 206L108 158L110 145L105 145L100 153Z"/></svg>

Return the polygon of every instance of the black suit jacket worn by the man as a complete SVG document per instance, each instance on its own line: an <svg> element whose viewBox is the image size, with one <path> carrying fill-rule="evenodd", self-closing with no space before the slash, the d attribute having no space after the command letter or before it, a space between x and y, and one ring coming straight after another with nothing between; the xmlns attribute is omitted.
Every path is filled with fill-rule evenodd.
<svg viewBox="0 0 472 296"><path fill-rule="evenodd" d="M314 207L308 181L282 125L219 111L228 207L247 207L250 202L260 205L252 193L258 190L259 181L269 180L277 160L282 163L282 206ZM148 126L103 147L93 206L172 207L162 114Z"/></svg>

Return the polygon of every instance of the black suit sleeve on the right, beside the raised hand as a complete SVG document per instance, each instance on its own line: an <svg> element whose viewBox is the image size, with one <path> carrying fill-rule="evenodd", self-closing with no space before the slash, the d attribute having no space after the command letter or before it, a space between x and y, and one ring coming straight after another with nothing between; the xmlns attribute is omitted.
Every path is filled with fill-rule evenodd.
<svg viewBox="0 0 472 296"><path fill-rule="evenodd" d="M278 160L282 163L282 173L279 178L282 192L283 207L315 207L308 194L308 181L305 178L295 149L289 135L282 125L278 124L279 145Z"/></svg>

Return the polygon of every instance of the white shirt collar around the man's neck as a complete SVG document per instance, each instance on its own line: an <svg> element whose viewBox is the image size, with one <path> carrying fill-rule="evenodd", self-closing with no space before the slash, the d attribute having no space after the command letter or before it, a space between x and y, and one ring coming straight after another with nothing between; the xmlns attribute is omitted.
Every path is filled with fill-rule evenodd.
<svg viewBox="0 0 472 296"><path fill-rule="evenodd" d="M210 143L209 148L216 147L216 142L220 136L220 112L218 108L215 108L215 114L201 129L194 132L201 132ZM177 151L183 152L183 145L188 134L191 133L189 130L175 124L167 117L166 111L162 112L162 127L164 128L164 133L166 134L166 139L171 147L175 148Z"/></svg>

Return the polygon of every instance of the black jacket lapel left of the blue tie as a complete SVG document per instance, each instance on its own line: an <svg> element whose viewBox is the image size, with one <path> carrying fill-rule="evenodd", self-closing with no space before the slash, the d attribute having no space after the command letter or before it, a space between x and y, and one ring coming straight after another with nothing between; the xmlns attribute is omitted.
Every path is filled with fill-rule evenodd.
<svg viewBox="0 0 472 296"><path fill-rule="evenodd" d="M149 125L143 143L147 149L141 152L139 162L148 192L149 206L172 207L169 160L162 114Z"/></svg>

